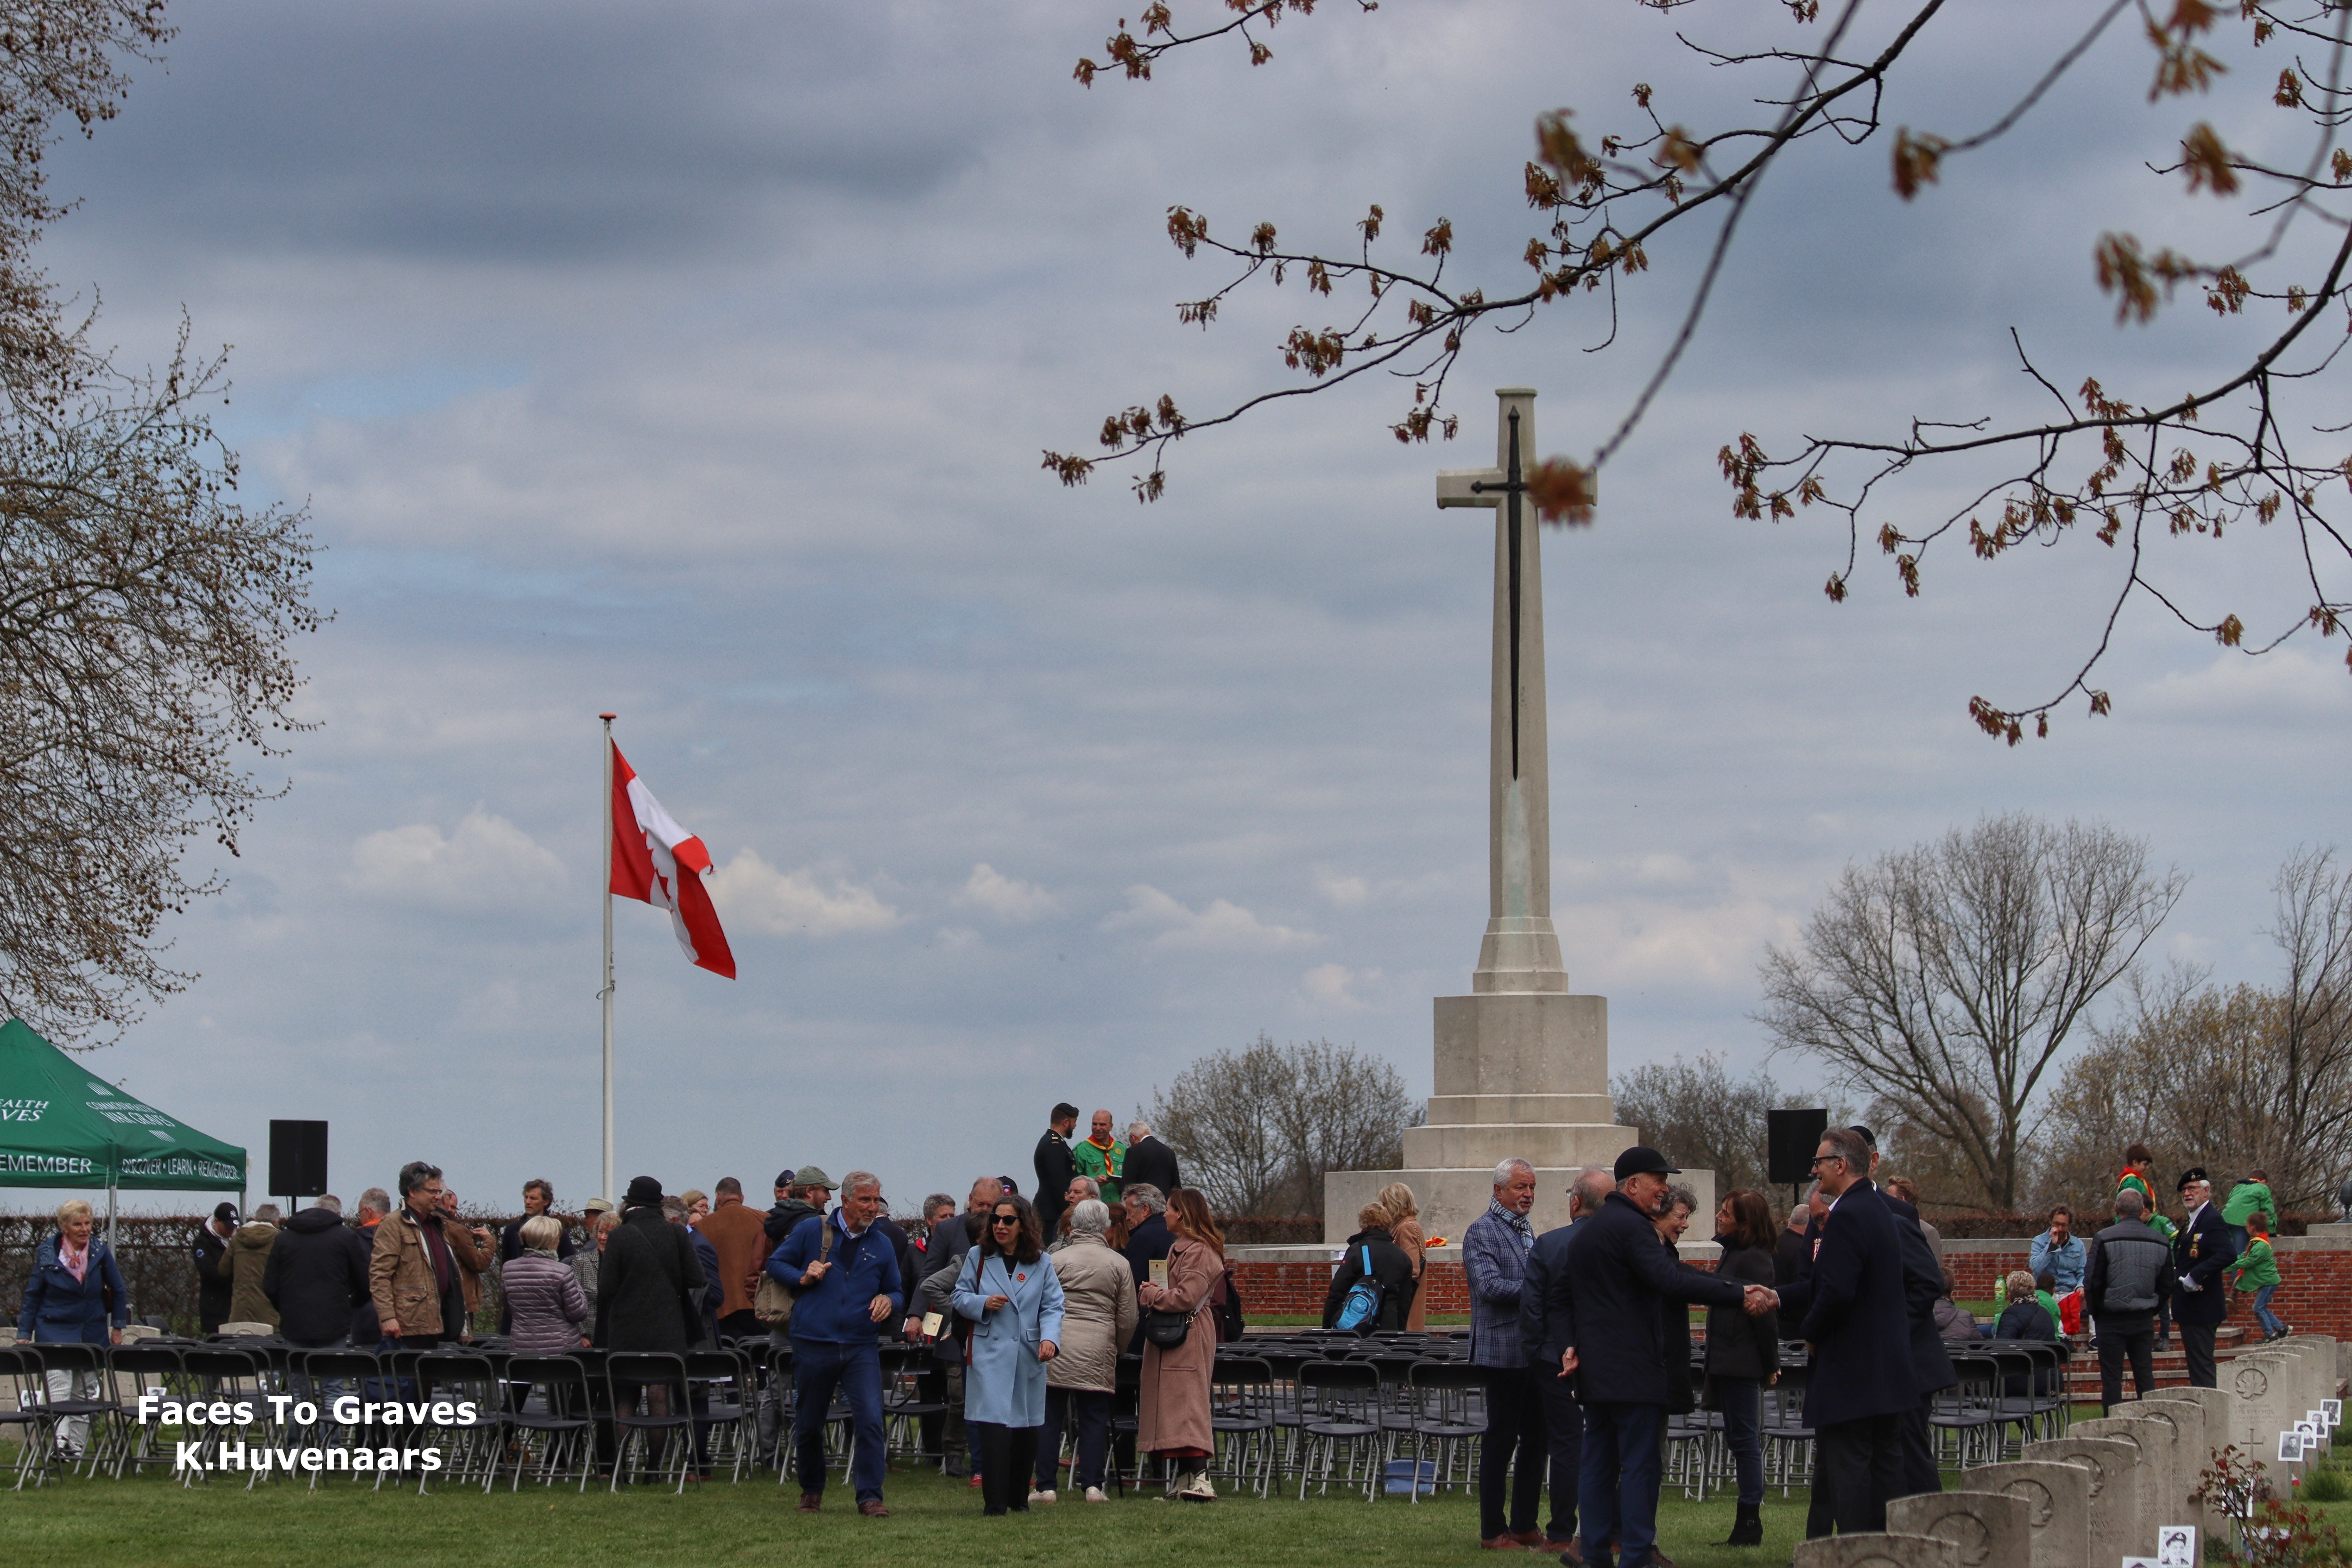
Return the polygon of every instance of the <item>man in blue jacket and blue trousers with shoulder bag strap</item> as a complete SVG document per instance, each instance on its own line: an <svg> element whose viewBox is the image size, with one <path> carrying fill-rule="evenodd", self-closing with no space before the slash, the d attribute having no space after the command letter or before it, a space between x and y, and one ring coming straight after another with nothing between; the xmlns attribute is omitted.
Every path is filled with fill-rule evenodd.
<svg viewBox="0 0 2352 1568"><path fill-rule="evenodd" d="M882 1507L882 1340L906 1309L898 1248L875 1225L882 1178L851 1171L842 1206L807 1218L767 1258L767 1272L793 1295L793 1448L800 1460L800 1512L814 1514L826 1495L826 1410L840 1389L856 1427L849 1481L858 1512ZM830 1237L826 1232L833 1232Z"/></svg>

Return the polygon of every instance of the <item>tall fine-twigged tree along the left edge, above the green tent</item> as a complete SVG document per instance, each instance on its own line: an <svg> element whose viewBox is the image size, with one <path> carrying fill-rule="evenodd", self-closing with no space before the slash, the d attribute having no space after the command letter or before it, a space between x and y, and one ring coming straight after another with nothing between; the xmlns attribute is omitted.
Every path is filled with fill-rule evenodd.
<svg viewBox="0 0 2352 1568"><path fill-rule="evenodd" d="M0 1006L71 1044L188 980L160 926L221 886L181 856L273 790L318 625L299 512L247 512L205 404L221 360L120 369L31 266L61 216L52 125L113 118L127 59L169 38L158 0L33 0L0 19Z"/></svg>

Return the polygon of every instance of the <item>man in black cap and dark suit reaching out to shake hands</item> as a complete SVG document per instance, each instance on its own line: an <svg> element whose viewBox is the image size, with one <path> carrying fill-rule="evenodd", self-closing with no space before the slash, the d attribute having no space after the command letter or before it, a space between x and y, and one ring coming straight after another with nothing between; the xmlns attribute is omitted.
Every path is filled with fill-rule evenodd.
<svg viewBox="0 0 2352 1568"><path fill-rule="evenodd" d="M1658 1455L1665 1429L1665 1326L1661 1302L1769 1312L1776 1295L1675 1262L1658 1246L1668 1180L1679 1175L1658 1150L1618 1154L1616 1192L1569 1227L1559 1272L1566 1312L1545 1312L1543 1345L1531 1352L1576 1378L1585 1408L1585 1455L1576 1505L1583 1514L1583 1561L1609 1563L1609 1540L1623 1568L1649 1568L1658 1540ZM1526 1291L1519 1293L1522 1302ZM1684 1345L1675 1354L1686 1354Z"/></svg>

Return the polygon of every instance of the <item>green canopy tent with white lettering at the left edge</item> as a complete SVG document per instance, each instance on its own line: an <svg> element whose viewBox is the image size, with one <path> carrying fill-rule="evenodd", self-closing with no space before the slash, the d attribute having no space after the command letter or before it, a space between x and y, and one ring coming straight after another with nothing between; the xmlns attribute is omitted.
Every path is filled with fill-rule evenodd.
<svg viewBox="0 0 2352 1568"><path fill-rule="evenodd" d="M26 1025L0 1025L0 1187L245 1192L245 1150L136 1100Z"/></svg>

